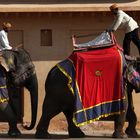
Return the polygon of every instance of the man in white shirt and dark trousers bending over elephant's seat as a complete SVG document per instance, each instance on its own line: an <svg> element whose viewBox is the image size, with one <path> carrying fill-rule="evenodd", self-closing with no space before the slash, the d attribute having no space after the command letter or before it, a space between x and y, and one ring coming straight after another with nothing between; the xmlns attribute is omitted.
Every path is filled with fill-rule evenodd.
<svg viewBox="0 0 140 140"><path fill-rule="evenodd" d="M115 20L108 31L116 31L119 26L122 26L125 29L125 37L123 40L124 54L130 55L131 41L136 45L140 54L139 26L137 22L124 11L120 10L117 4L111 5L110 11L115 16Z"/></svg>

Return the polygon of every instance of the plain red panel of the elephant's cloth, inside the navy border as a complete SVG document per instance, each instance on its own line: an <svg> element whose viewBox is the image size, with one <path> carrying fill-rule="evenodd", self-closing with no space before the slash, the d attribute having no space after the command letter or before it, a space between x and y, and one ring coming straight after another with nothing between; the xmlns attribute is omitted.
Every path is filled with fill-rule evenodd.
<svg viewBox="0 0 140 140"><path fill-rule="evenodd" d="M116 48L74 52L70 59L84 108L122 98L122 59Z"/></svg>

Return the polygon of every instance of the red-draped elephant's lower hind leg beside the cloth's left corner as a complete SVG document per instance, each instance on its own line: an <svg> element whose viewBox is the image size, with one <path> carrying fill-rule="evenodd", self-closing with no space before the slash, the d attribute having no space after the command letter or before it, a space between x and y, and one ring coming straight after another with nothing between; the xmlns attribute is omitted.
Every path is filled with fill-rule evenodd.
<svg viewBox="0 0 140 140"><path fill-rule="evenodd" d="M67 118L68 122L68 132L70 138L82 138L85 136L85 134L81 131L79 127L77 127L73 122L73 111L71 110L65 110L63 111Z"/></svg>

